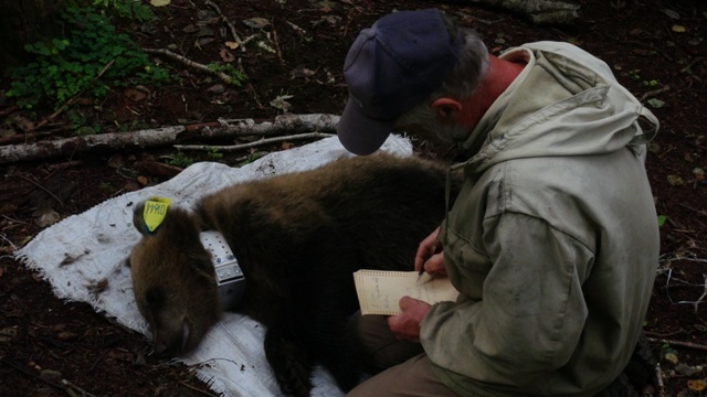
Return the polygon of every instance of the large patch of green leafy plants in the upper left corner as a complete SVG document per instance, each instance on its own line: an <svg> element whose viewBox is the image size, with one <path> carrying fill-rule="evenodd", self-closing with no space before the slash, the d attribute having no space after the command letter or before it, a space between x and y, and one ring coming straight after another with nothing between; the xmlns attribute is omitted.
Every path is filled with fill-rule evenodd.
<svg viewBox="0 0 707 397"><path fill-rule="evenodd" d="M159 85L169 79L126 34L93 7L61 13L65 35L25 45L35 61L15 69L8 97L33 108L51 101L55 108L85 95L104 97L113 87Z"/></svg>

